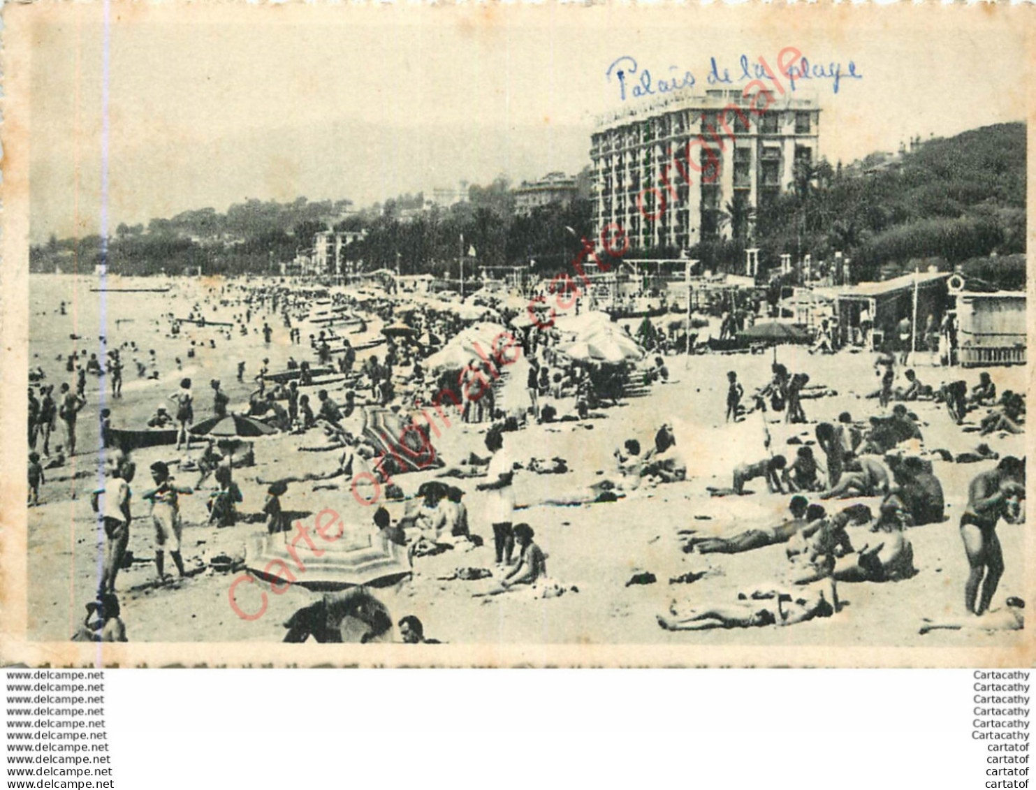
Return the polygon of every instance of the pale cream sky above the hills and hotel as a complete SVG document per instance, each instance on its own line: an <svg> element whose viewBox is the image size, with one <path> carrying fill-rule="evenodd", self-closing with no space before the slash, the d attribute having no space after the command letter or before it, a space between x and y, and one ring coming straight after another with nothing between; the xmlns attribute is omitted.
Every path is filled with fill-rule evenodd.
<svg viewBox="0 0 1036 790"><path fill-rule="evenodd" d="M807 20L739 7L113 4L106 138L100 8L16 20L32 36L34 242L97 232L106 141L110 231L248 198L364 206L501 173L575 173L595 118L646 100L628 85L623 101L608 77L624 56L656 86L689 71L701 89L712 58L732 77L742 55L773 65L785 47L843 75L853 62L861 79L810 88L832 163L1027 115L1024 26L957 12L970 8L803 9Z"/></svg>

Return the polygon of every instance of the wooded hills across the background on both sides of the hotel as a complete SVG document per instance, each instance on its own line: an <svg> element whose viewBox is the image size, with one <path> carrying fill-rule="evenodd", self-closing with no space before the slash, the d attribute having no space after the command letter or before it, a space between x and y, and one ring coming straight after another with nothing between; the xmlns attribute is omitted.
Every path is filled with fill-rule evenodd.
<svg viewBox="0 0 1036 790"><path fill-rule="evenodd" d="M588 169L578 180L585 187ZM365 230L348 256L367 270L457 276L457 259L474 247L479 265L528 266L551 275L564 271L593 233L585 197L520 215L510 181L497 177L471 185L467 200L430 205L425 196L402 195L353 210L351 201L291 203L249 200L226 213L184 211L143 225L119 225L107 240L110 271L175 274L276 272L279 264L313 245L326 228ZM913 141L898 155L872 154L850 166L797 164L794 180L757 210L727 203L702 217L703 233L690 257L706 268L740 271L746 246L759 247L764 270L781 254L809 254L814 273L835 252L852 259L854 281L879 280L923 260L944 269L984 259L1006 261L1026 248L1026 126L1006 123L952 138ZM585 192L581 193L584 195ZM462 240L463 239L463 240ZM638 251L645 258L678 258L684 251ZM92 271L102 259L97 236L58 240L30 250L32 271ZM1016 259L1015 259L1016 260ZM997 274L999 269L983 269Z"/></svg>

